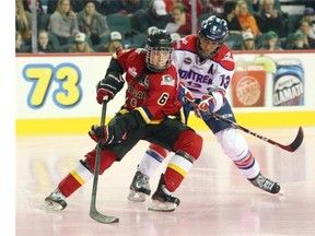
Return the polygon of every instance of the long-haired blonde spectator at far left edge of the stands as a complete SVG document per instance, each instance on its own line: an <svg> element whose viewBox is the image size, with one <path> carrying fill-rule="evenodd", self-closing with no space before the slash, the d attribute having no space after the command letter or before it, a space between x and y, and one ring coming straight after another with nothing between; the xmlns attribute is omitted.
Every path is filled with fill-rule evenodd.
<svg viewBox="0 0 315 236"><path fill-rule="evenodd" d="M21 33L26 45L31 45L32 14L25 11L22 0L15 0L15 31Z"/></svg>

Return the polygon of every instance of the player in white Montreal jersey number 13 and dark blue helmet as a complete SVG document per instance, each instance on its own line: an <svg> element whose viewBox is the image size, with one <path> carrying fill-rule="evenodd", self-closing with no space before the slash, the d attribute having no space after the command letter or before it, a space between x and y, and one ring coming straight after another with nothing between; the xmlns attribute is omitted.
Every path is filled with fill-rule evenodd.
<svg viewBox="0 0 315 236"><path fill-rule="evenodd" d="M221 120L215 120L207 113L213 111L236 122L225 98L225 91L235 69L232 51L224 44L228 37L226 22L210 16L202 22L198 34L188 35L174 43L173 62L180 82L192 93L195 103L199 104L197 116L201 117L213 132L223 152L255 187L278 193L280 186L260 174L257 160L237 130ZM188 104L184 108L187 120L191 107ZM145 200L145 196L151 191L149 179L167 153L168 151L155 144L149 146L130 185L129 200Z"/></svg>

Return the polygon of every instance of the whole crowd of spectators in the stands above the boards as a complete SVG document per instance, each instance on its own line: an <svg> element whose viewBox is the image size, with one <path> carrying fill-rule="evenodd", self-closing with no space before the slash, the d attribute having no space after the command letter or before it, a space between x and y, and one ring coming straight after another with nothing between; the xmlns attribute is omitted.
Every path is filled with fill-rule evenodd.
<svg viewBox="0 0 315 236"><path fill-rule="evenodd" d="M15 52L144 47L152 27L175 40L213 14L226 20L232 50L315 49L315 1L289 3L301 11L285 0L15 0Z"/></svg>

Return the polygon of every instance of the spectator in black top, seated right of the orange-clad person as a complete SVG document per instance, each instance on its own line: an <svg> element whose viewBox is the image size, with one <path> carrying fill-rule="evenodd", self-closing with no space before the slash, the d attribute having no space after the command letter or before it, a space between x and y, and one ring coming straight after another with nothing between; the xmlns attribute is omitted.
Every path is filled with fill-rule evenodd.
<svg viewBox="0 0 315 236"><path fill-rule="evenodd" d="M276 32L280 37L287 37L284 14L273 8L275 0L261 0L260 11L255 14L261 33Z"/></svg>

